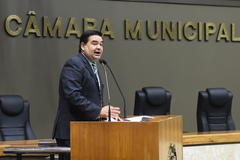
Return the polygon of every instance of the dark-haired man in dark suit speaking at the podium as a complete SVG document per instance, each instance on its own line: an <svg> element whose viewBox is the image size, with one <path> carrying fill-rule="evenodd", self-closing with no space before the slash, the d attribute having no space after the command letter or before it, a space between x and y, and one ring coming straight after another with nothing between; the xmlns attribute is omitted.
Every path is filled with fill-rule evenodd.
<svg viewBox="0 0 240 160"><path fill-rule="evenodd" d="M103 106L103 85L95 68L102 52L101 32L86 31L80 38L79 54L63 66L52 137L59 146L70 146L70 121L98 121L108 117L109 106ZM121 121L119 108L110 108L111 117Z"/></svg>

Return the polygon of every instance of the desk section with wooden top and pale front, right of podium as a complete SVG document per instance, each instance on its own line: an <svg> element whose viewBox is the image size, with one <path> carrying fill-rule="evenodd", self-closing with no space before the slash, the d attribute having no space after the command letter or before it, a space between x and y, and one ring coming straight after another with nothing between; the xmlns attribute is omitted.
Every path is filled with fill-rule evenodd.
<svg viewBox="0 0 240 160"><path fill-rule="evenodd" d="M231 159L240 157L240 131L183 133L183 159Z"/></svg>

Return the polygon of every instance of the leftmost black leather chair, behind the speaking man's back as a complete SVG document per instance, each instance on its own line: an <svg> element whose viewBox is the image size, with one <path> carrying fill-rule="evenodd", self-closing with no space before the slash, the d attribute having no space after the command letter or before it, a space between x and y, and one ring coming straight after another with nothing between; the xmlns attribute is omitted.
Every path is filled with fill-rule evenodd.
<svg viewBox="0 0 240 160"><path fill-rule="evenodd" d="M0 141L36 139L30 125L29 106L19 95L0 96Z"/></svg>

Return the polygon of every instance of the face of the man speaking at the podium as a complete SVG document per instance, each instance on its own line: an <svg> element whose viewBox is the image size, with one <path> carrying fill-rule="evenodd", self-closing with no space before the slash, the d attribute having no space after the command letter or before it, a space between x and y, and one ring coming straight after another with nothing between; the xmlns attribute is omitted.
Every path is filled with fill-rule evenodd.
<svg viewBox="0 0 240 160"><path fill-rule="evenodd" d="M92 62L97 62L103 52L103 39L101 36L93 35L89 37L87 44L81 43L82 52L87 56Z"/></svg>

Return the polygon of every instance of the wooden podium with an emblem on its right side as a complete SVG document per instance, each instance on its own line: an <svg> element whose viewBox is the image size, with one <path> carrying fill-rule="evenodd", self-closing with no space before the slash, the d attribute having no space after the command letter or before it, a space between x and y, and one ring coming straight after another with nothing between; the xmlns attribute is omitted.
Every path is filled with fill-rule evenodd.
<svg viewBox="0 0 240 160"><path fill-rule="evenodd" d="M155 116L147 122L71 122L71 160L168 160L171 144L177 160L182 160L182 116Z"/></svg>

